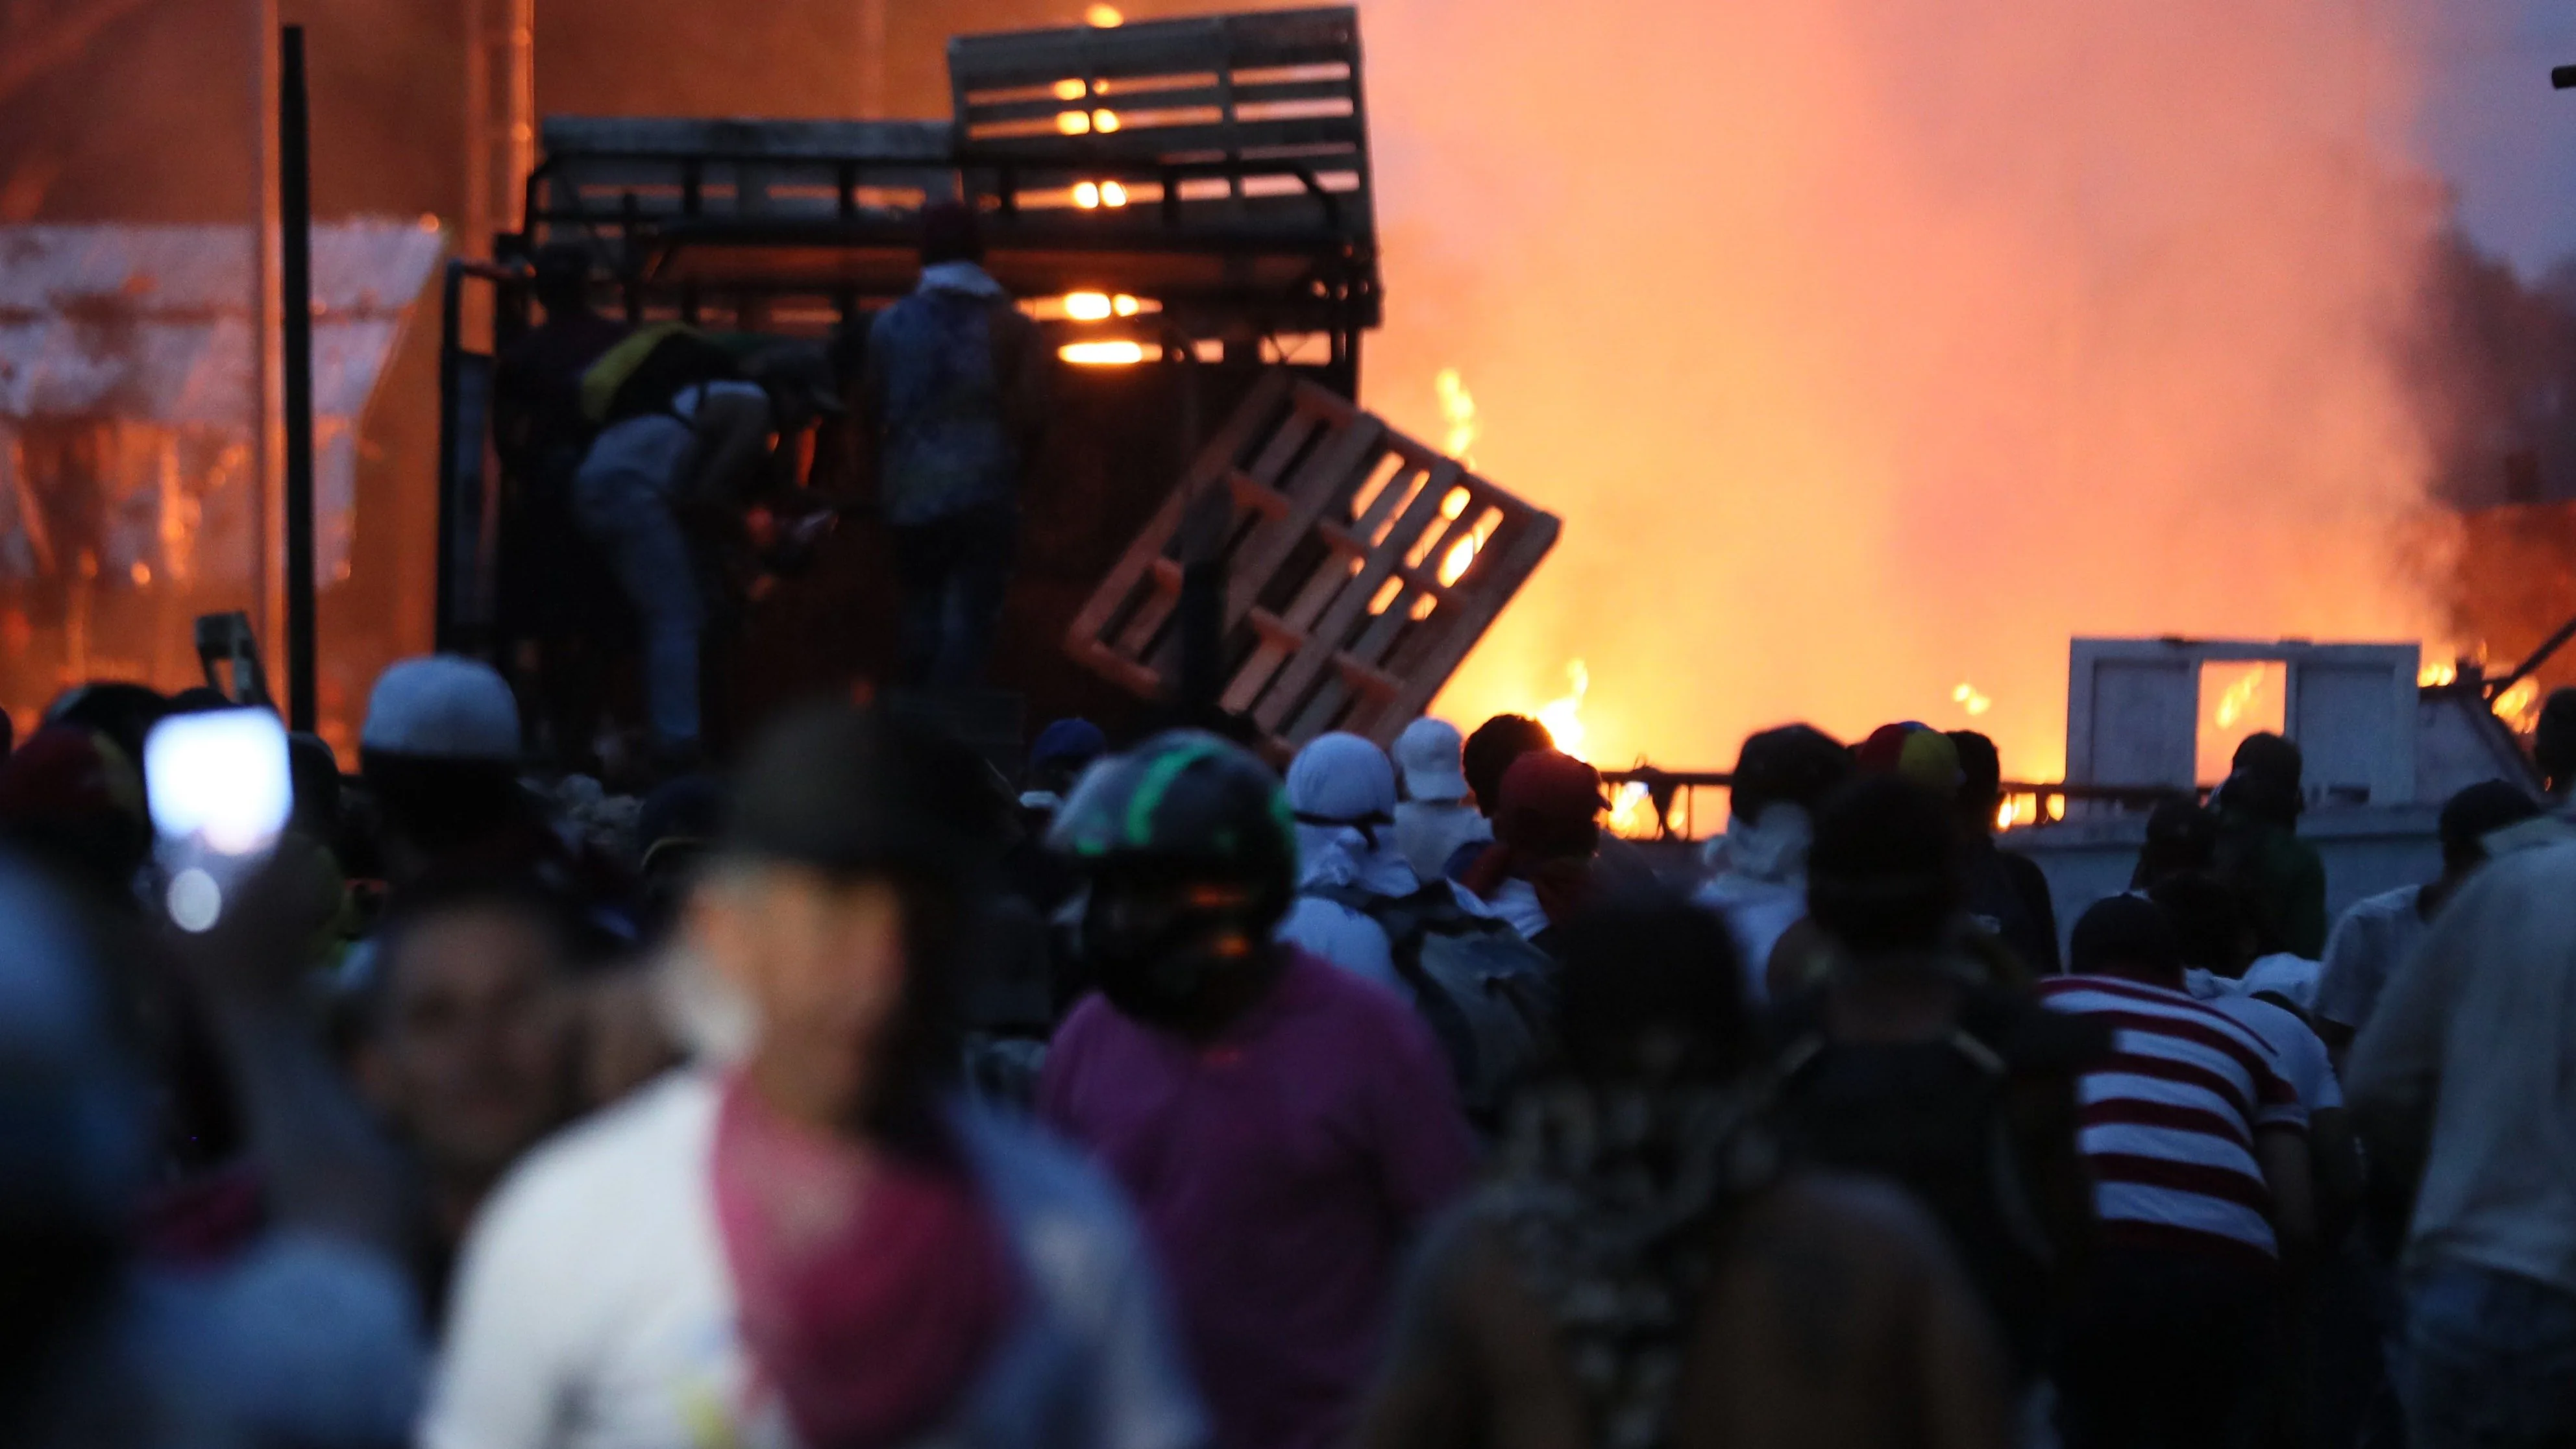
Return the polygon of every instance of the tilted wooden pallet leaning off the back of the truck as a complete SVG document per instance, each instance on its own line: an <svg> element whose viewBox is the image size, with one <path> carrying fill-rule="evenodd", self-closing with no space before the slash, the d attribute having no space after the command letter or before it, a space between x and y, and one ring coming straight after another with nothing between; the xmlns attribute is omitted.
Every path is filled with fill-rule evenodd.
<svg viewBox="0 0 2576 1449"><path fill-rule="evenodd" d="M1226 507L1221 705L1275 752L1324 731L1391 744L1558 533L1556 515L1273 371L1066 633L1077 661L1141 697L1170 692L1177 535L1211 492Z"/></svg>

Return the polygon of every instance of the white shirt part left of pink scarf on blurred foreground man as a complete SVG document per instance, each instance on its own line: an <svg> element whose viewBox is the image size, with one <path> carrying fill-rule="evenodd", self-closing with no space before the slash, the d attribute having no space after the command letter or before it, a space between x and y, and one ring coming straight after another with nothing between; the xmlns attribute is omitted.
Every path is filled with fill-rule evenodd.
<svg viewBox="0 0 2576 1449"><path fill-rule="evenodd" d="M644 1089L536 1150L456 1274L420 1449L793 1449L734 1328L716 1086Z"/></svg>

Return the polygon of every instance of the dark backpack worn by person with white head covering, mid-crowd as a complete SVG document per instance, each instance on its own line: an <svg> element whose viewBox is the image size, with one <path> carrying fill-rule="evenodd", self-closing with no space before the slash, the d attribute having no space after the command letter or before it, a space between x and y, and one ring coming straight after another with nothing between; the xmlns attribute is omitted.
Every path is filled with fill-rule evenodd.
<svg viewBox="0 0 2576 1449"><path fill-rule="evenodd" d="M1448 1050L1458 1102L1479 1125L1497 1122L1512 1086L1556 1055L1556 960L1507 921L1471 914L1448 880L1412 896L1358 885L1306 896L1347 906L1386 932L1396 975Z"/></svg>

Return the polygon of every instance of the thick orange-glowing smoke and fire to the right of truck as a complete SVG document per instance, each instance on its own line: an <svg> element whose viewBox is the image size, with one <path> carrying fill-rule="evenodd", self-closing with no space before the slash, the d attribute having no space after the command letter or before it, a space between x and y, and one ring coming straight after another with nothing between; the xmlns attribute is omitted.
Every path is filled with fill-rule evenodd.
<svg viewBox="0 0 2576 1449"><path fill-rule="evenodd" d="M2347 0L1363 0L1370 399L1566 538L1450 685L1589 754L2063 759L2074 633L2419 638L2437 201ZM1973 682L1994 700L1971 718Z"/></svg>

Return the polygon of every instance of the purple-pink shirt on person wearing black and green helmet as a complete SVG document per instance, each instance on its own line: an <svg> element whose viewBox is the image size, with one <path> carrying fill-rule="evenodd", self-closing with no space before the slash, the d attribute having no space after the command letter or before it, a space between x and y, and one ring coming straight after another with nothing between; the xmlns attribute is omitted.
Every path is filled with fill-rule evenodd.
<svg viewBox="0 0 2576 1449"><path fill-rule="evenodd" d="M1038 1112L1136 1199L1218 1449L1340 1444L1401 1253L1473 1174L1412 1009L1306 952L1208 1045L1092 996L1048 1050Z"/></svg>

